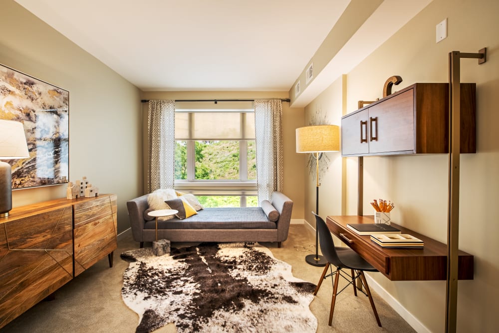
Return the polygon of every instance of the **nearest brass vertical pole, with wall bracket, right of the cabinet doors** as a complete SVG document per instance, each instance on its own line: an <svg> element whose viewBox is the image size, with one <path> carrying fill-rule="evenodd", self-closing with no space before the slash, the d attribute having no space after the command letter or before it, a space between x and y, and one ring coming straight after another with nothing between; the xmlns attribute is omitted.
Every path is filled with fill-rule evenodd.
<svg viewBox="0 0 499 333"><path fill-rule="evenodd" d="M487 49L479 53L449 53L449 198L447 218L447 290L445 331L456 332L459 259L459 173L461 148L461 58L486 62Z"/></svg>

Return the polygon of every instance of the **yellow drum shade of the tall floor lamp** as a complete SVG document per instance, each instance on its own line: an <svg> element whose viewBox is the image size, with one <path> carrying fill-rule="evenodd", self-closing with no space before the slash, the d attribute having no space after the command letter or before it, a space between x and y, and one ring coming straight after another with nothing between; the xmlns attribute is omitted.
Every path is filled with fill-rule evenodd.
<svg viewBox="0 0 499 333"><path fill-rule="evenodd" d="M336 125L306 126L296 129L297 153L322 153L340 150L340 130Z"/></svg>

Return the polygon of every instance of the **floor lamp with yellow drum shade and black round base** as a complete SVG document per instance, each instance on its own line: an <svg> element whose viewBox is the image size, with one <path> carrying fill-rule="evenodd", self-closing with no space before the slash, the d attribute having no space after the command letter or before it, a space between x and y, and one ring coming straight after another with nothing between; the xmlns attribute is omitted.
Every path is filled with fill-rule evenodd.
<svg viewBox="0 0 499 333"><path fill-rule="evenodd" d="M316 196L315 213L319 214L319 156L321 153L339 151L339 127L336 125L306 126L296 129L296 152L312 153L315 156ZM313 266L325 266L326 260L319 256L319 231L315 227L315 254L305 257L305 261Z"/></svg>

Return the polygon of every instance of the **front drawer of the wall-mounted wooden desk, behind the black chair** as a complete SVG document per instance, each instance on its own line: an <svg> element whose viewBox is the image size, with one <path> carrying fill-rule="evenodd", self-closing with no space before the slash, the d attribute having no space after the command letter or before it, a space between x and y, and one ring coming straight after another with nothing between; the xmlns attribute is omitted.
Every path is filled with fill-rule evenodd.
<svg viewBox="0 0 499 333"><path fill-rule="evenodd" d="M349 229L330 221L329 217L326 220L326 224L333 234L339 235L339 239L343 243L390 279L390 257L383 253L383 251L378 251L378 249L369 246L370 236L360 236L354 232L350 232Z"/></svg>

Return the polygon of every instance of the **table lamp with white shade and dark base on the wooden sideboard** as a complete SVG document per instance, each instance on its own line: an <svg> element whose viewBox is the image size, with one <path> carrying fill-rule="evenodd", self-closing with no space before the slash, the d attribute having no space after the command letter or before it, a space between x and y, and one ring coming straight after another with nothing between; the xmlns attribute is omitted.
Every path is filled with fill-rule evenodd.
<svg viewBox="0 0 499 333"><path fill-rule="evenodd" d="M22 123L0 120L0 160L29 157ZM12 209L12 168L0 161L0 218Z"/></svg>

